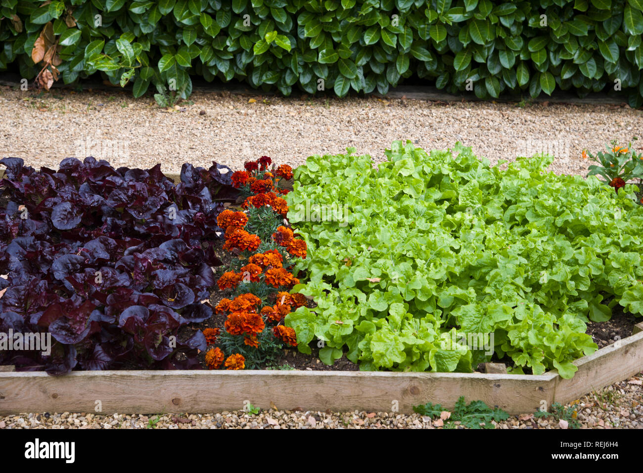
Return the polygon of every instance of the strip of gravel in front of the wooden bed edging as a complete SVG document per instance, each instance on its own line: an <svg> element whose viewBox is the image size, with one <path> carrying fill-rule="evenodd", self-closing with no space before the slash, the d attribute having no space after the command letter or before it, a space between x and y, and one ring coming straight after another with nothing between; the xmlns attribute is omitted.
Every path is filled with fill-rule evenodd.
<svg viewBox="0 0 643 473"><path fill-rule="evenodd" d="M643 429L643 373L581 397L574 406L581 428ZM468 402L469 400L467 400ZM259 406L260 407L260 406ZM275 406L278 407L278 406ZM571 412L571 411L570 411ZM573 415L572 415L573 416ZM559 418L534 418L533 413L494 422L498 429L568 429ZM367 412L242 411L213 414L94 415L30 413L0 416L0 429L439 429L440 420L418 414ZM458 428L464 428L458 426Z"/></svg>

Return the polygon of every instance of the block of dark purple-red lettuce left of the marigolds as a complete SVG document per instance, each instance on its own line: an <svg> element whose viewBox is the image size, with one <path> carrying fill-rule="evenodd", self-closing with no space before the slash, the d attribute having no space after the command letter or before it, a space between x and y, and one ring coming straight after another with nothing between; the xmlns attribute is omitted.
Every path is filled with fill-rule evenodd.
<svg viewBox="0 0 643 473"><path fill-rule="evenodd" d="M0 159L0 332L48 332L51 353L2 351L0 364L74 369L199 368L206 341L181 328L212 317L201 303L221 265L217 216L234 201L227 166L114 169L87 157L58 171Z"/></svg>

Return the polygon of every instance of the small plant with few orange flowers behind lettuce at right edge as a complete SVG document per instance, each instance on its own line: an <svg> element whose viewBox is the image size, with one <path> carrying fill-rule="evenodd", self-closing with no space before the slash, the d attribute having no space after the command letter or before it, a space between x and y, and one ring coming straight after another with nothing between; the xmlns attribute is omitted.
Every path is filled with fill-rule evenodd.
<svg viewBox="0 0 643 473"><path fill-rule="evenodd" d="M619 146L617 141L606 145L607 152L599 151L596 156L583 150L583 158L591 159L598 163L589 167L588 176L599 175L618 193L620 188L632 179L643 181L643 155L637 154L632 148L632 143L627 147Z"/></svg>

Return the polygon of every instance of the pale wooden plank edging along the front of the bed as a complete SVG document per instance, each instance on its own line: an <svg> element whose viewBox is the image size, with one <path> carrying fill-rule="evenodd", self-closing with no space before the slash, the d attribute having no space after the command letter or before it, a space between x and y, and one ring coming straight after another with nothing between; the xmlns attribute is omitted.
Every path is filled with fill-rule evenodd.
<svg viewBox="0 0 643 473"><path fill-rule="evenodd" d="M212 413L246 401L269 409L410 413L425 402L452 409L458 397L510 414L569 402L643 370L643 332L575 362L572 379L543 375L390 371L74 371L0 372L0 415L23 412ZM394 409L397 408L397 411Z"/></svg>

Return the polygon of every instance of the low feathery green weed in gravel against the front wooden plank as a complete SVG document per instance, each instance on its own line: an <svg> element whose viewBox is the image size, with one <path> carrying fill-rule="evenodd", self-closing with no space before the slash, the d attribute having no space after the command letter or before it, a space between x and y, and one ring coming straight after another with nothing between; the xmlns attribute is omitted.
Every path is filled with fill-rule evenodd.
<svg viewBox="0 0 643 473"><path fill-rule="evenodd" d="M434 406L430 402L424 406L413 406L413 411L434 420L442 420L445 429L455 429L458 425L468 429L495 429L496 426L491 423L492 420L500 422L509 418L509 414L502 409L491 409L480 400L472 401L467 405L464 396L458 398L451 412L444 411L440 404Z"/></svg>

